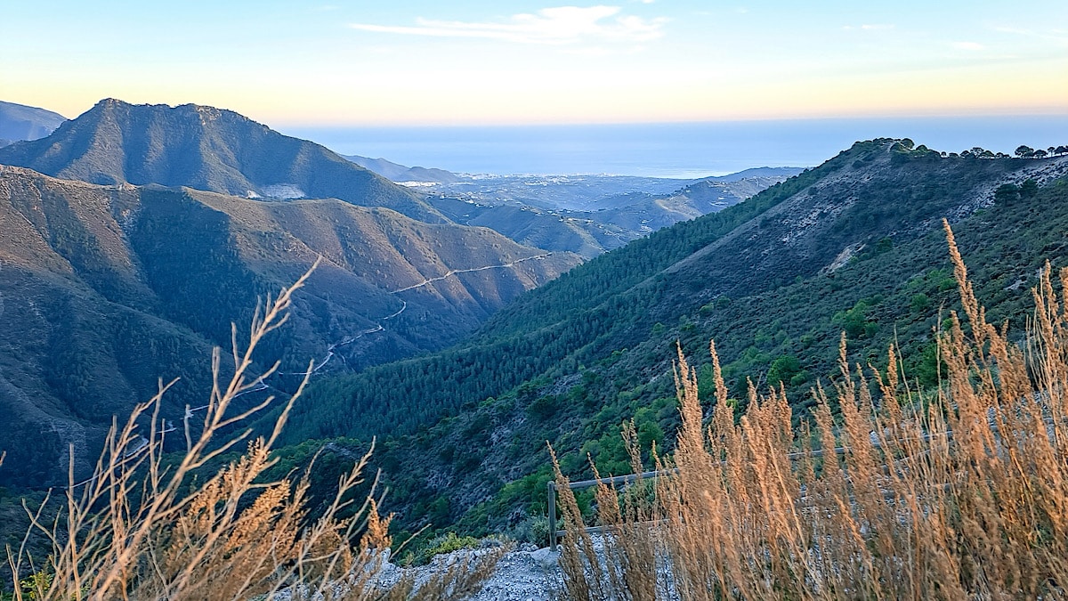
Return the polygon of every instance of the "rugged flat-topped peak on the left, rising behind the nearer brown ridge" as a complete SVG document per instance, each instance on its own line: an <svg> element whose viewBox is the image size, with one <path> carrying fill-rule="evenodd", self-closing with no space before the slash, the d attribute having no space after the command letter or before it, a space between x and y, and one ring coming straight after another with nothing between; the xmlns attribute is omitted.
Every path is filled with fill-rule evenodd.
<svg viewBox="0 0 1068 601"><path fill-rule="evenodd" d="M108 98L47 138L0 149L0 164L101 185L337 198L424 221L444 220L413 192L319 144L207 106L131 105Z"/></svg>

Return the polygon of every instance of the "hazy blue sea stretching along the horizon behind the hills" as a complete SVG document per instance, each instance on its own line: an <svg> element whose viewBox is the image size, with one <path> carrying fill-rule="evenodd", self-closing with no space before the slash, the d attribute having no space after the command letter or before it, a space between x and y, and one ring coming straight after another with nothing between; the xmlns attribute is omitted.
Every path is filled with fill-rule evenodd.
<svg viewBox="0 0 1068 601"><path fill-rule="evenodd" d="M910 138L945 152L1068 144L1054 115L806 119L598 125L282 128L346 155L470 174L695 179L819 165L854 141Z"/></svg>

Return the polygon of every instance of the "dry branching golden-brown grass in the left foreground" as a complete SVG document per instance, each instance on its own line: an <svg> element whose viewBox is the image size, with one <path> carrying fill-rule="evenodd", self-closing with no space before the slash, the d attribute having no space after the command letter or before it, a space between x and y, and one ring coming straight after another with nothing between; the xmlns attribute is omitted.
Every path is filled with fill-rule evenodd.
<svg viewBox="0 0 1068 601"><path fill-rule="evenodd" d="M90 480L76 486L69 475L54 522L44 523L43 507L28 508L33 529L21 548L7 549L7 559L15 582L27 572L34 575L15 587L14 599L229 600L270 598L284 588L293 599L460 599L477 589L500 553L472 558L419 585L413 576L399 582L379 577L392 544L389 518L379 515L370 497L355 517L341 518L352 512L342 499L361 483L366 457L341 479L333 503L315 520L304 509L307 477L260 482L273 464L271 446L303 384L268 436L249 441L248 430L223 434L272 402L268 398L239 411L234 400L262 387L277 369L250 375L253 350L285 323L293 293L310 274L257 309L244 350L234 328L234 375L229 381L219 375L221 356L216 350L215 385L203 426L197 434L187 410L187 448L178 461L162 456L170 429L159 415L169 387L161 384L125 423L113 425ZM239 445L246 445L239 460L198 479L213 460ZM33 534L51 541L45 561L26 552ZM357 537L359 544L351 544Z"/></svg>

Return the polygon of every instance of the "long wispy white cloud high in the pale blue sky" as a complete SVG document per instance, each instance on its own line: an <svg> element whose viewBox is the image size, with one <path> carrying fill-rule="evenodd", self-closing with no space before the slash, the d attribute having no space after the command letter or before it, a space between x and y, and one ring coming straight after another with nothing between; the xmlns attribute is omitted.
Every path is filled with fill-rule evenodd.
<svg viewBox="0 0 1068 601"><path fill-rule="evenodd" d="M481 37L521 44L566 45L580 42L649 42L663 35L665 18L644 19L622 14L618 6L556 6L535 14L513 15L502 21L447 21L418 18L415 26L350 24L360 31Z"/></svg>

